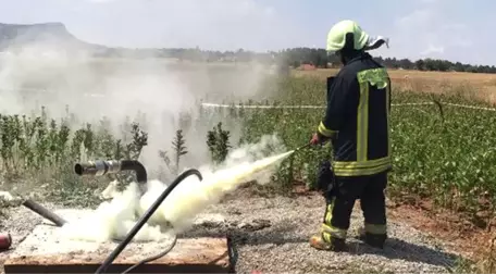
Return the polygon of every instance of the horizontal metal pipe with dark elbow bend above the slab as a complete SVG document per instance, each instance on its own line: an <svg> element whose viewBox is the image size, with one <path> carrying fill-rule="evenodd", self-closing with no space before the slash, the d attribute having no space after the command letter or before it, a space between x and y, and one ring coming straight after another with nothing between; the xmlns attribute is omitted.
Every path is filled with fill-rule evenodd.
<svg viewBox="0 0 496 274"><path fill-rule="evenodd" d="M79 176L103 176L106 174L115 174L121 171L134 171L136 180L139 184L147 183L147 170L137 160L98 160L86 163L76 163L74 171Z"/></svg>

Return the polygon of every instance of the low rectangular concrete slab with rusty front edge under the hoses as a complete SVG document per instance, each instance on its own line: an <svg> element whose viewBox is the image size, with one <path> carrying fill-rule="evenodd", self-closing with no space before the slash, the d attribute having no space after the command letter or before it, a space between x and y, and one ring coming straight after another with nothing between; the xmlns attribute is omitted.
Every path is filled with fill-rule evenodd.
<svg viewBox="0 0 496 274"><path fill-rule="evenodd" d="M71 222L89 212L72 210L57 213ZM219 216L215 219L219 222ZM35 227L5 261L5 274L94 273L117 245L69 240L61 238L58 229L48 224ZM131 242L107 273L121 273L140 260L160 253L171 241ZM227 250L226 238L179 238L165 257L141 265L133 273L228 273Z"/></svg>

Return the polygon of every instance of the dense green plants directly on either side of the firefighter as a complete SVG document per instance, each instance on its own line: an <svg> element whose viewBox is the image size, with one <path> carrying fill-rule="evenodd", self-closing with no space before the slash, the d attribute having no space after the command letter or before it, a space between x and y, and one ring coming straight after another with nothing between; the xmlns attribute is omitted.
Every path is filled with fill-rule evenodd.
<svg viewBox="0 0 496 274"><path fill-rule="evenodd" d="M311 79L290 79L282 86L285 104L323 104L323 83ZM496 150L494 140L496 113L457 108L449 104L480 104L461 94L433 98L421 92L393 95L394 104L433 102L426 105L394 105L392 108L392 139L394 172L390 174L389 195L432 198L436 204L463 211L478 223L493 217L496 204ZM245 114L244 137L253 141L261 135L276 132L288 148L301 146L309 139L323 110L257 109ZM309 149L295 155L295 178L301 177L306 166L312 173L326 153L325 149ZM306 165L308 163L308 165ZM307 167L308 169L308 167ZM307 180L312 187L314 180ZM481 220L485 212L485 220Z"/></svg>

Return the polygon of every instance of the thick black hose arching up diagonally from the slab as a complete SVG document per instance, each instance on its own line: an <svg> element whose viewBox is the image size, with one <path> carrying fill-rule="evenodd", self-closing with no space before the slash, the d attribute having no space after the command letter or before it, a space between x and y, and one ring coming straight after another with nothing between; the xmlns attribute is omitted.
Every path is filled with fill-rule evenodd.
<svg viewBox="0 0 496 274"><path fill-rule="evenodd" d="M117 258L117 256L124 250L124 248L131 242L134 236L141 229L141 227L148 222L148 220L153 215L160 204L165 200L165 198L171 194L171 191L186 177L190 175L196 175L200 180L203 179L201 173L198 170L190 169L183 172L177 176L174 182L160 195L160 197L153 202L153 204L145 212L145 214L139 219L135 226L127 233L123 241L110 253L110 256L103 261L103 263L98 267L95 274L106 273L109 265Z"/></svg>

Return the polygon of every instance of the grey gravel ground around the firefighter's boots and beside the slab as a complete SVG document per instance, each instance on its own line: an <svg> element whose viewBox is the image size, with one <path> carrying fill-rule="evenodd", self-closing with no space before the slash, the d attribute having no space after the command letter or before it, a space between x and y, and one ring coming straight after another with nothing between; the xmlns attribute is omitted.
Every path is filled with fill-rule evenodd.
<svg viewBox="0 0 496 274"><path fill-rule="evenodd" d="M319 229L323 212L319 196L233 199L206 211L220 219L203 222L183 237L231 235L236 273L449 273L446 267L455 265L455 256L445 250L447 245L399 223L389 222L384 250L355 240L354 232L362 222L358 209L351 221L349 252L314 250L308 240ZM39 222L35 213L18 208L0 232L12 234L15 248ZM0 253L0 263L8 254Z"/></svg>

